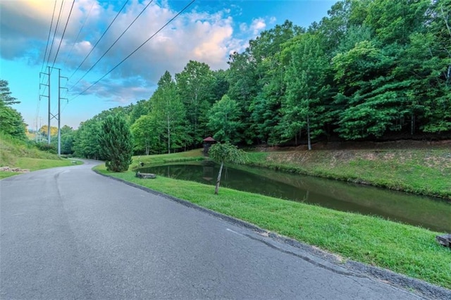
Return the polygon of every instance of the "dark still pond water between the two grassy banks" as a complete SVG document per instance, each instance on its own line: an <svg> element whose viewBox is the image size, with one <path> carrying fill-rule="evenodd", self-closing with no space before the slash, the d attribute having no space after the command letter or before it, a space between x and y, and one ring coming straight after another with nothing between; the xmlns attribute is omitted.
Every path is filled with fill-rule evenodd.
<svg viewBox="0 0 451 300"><path fill-rule="evenodd" d="M145 173L207 185L216 183L218 170L218 165L211 161L140 169ZM438 232L451 232L451 202L426 196L242 165L224 167L221 187L301 201L337 211L378 215Z"/></svg>

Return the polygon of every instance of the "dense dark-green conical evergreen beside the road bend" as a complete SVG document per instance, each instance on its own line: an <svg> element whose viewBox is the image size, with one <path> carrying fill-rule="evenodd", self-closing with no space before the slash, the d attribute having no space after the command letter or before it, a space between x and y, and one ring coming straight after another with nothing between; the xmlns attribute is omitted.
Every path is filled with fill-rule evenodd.
<svg viewBox="0 0 451 300"><path fill-rule="evenodd" d="M121 115L109 115L101 123L99 145L107 170L122 172L132 163L132 133Z"/></svg>

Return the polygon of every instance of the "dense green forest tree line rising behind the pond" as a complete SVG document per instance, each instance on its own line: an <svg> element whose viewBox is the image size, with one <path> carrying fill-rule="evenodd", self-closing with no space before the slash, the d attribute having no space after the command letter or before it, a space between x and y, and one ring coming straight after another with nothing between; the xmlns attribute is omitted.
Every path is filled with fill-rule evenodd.
<svg viewBox="0 0 451 300"><path fill-rule="evenodd" d="M290 21L249 41L227 70L190 61L147 100L80 124L72 151L101 158L108 115L135 154L232 144L307 144L451 132L451 0L343 0L309 27Z"/></svg>

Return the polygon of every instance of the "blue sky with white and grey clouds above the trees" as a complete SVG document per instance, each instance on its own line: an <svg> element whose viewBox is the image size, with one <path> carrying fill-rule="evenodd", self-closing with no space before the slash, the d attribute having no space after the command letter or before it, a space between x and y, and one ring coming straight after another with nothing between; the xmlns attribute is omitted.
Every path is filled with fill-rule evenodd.
<svg viewBox="0 0 451 300"><path fill-rule="evenodd" d="M47 77L42 75L39 81L39 73L47 73L47 65L54 66L50 76L51 113L57 115L56 68L60 68L61 76L68 77L68 80L61 79L61 87L68 88L61 89L61 97L67 98L61 101L61 125L76 128L80 122L106 109L149 99L165 70L172 75L180 73L190 60L207 63L213 70L226 69L228 55L243 51L249 39L263 30L285 20L308 27L326 16L335 2L196 0L128 60L80 94L154 35L190 0L154 0L151 4L149 0L75 0L70 18L72 0L0 0L0 78L9 82L13 96L21 101L13 107L22 113L25 123L34 128L47 124L47 98L41 97L39 101L39 94L48 93L44 85L39 90L39 83L47 83ZM147 4L140 18L106 53ZM60 8L60 22L51 47ZM99 41L117 14L115 22ZM89 68L92 70L87 72ZM55 119L51 125L57 125Z"/></svg>

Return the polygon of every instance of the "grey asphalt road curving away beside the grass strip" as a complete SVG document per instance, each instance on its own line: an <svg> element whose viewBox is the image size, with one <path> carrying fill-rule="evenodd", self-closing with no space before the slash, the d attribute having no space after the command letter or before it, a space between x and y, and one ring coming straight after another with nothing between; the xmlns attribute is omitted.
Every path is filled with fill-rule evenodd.
<svg viewBox="0 0 451 300"><path fill-rule="evenodd" d="M0 181L0 299L422 299L93 165Z"/></svg>

